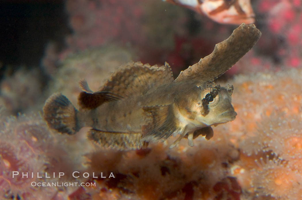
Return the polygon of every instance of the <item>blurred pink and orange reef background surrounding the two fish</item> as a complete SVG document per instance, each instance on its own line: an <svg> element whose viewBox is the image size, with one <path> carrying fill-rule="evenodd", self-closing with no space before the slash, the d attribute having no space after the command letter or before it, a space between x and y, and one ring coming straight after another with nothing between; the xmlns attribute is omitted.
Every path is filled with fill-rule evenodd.
<svg viewBox="0 0 302 200"><path fill-rule="evenodd" d="M50 130L40 113L61 92L77 104L78 81L96 90L130 60L162 65L174 77L236 25L161 0L2 1L0 3L0 198L302 199L302 2L252 1L262 37L219 81L234 85L236 120L214 137L117 152L85 130ZM96 187L32 187L12 171L95 172ZM63 181L57 178L48 182ZM41 180L40 180L41 181Z"/></svg>

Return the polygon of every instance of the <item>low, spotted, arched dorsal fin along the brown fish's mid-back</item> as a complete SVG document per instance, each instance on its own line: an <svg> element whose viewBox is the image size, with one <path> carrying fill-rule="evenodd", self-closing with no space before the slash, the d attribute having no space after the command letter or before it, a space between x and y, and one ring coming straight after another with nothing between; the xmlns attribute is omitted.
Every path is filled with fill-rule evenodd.
<svg viewBox="0 0 302 200"><path fill-rule="evenodd" d="M100 88L99 92L111 92L122 97L145 94L149 89L173 82L172 70L168 63L143 65L130 62L120 66L111 78Z"/></svg>

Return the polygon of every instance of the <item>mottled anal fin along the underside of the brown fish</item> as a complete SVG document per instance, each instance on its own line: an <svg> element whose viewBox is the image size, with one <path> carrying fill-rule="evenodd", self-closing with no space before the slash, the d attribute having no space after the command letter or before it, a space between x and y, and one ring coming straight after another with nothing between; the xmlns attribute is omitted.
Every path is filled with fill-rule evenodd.
<svg viewBox="0 0 302 200"><path fill-rule="evenodd" d="M101 144L101 146L116 150L141 149L148 146L148 142L142 140L141 133L109 132L90 129L87 136L90 140Z"/></svg>

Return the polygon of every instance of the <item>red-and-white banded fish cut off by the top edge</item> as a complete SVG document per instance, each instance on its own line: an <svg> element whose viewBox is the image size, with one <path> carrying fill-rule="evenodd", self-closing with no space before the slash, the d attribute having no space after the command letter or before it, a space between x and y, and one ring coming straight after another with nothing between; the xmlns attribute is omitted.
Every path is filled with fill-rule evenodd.
<svg viewBox="0 0 302 200"><path fill-rule="evenodd" d="M250 0L163 0L180 5L222 24L252 24L255 14Z"/></svg>

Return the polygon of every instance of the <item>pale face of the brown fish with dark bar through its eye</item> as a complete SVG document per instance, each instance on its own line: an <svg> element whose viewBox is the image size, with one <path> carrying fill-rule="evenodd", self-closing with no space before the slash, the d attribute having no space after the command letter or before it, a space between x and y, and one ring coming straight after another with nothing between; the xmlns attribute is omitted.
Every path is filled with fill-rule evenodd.
<svg viewBox="0 0 302 200"><path fill-rule="evenodd" d="M237 113L232 106L233 85L207 85L200 92L199 113L195 120L208 126L232 121Z"/></svg>

